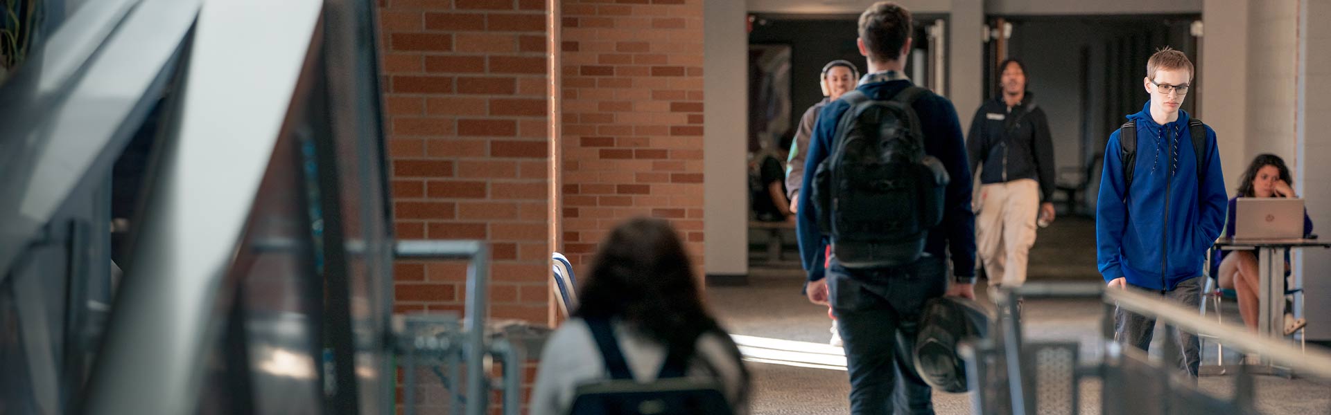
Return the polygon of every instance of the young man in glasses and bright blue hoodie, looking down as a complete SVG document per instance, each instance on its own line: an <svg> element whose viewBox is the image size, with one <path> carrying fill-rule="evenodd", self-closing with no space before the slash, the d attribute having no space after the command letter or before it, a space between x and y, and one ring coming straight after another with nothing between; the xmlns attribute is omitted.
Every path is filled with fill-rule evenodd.
<svg viewBox="0 0 1331 415"><path fill-rule="evenodd" d="M1110 287L1151 293L1197 309L1206 250L1225 221L1225 176L1215 132L1181 110L1193 63L1165 48L1142 80L1150 101L1109 137L1095 206L1095 255ZM1115 338L1147 350L1155 321L1119 309ZM1195 334L1178 331L1178 367L1197 379Z"/></svg>

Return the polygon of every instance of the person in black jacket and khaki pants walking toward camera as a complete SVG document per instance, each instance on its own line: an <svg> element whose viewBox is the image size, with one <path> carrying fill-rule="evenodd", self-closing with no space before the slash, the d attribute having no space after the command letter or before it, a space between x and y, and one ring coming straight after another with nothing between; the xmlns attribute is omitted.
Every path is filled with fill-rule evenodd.
<svg viewBox="0 0 1331 415"><path fill-rule="evenodd" d="M1026 259L1041 226L1054 221L1054 144L1049 120L1028 90L1026 67L1000 65L1001 93L980 105L970 121L966 153L980 172L976 196L976 253L989 289L1026 281Z"/></svg>

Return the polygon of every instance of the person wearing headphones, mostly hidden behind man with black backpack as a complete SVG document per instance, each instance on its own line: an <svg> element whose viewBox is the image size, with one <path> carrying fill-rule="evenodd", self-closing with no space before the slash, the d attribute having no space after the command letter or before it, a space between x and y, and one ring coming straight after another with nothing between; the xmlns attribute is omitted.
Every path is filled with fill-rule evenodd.
<svg viewBox="0 0 1331 415"><path fill-rule="evenodd" d="M817 124L819 112L828 102L836 101L843 94L855 88L855 82L860 78L860 69L855 64L844 60L835 60L823 65L823 73L819 76L819 86L823 88L823 101L813 104L804 116L800 117L800 128L795 132L795 140L791 141L791 154L785 161L785 192L791 198L791 213L799 211L800 208L800 186L804 185L804 162L809 154L809 134L813 133L813 125ZM828 309L828 317L832 321L832 346L841 347L841 334L836 329L836 315L832 309Z"/></svg>

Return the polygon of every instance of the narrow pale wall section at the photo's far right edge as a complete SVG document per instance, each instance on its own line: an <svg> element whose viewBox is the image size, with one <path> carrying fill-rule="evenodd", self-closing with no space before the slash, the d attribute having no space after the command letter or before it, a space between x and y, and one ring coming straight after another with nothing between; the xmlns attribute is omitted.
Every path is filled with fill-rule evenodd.
<svg viewBox="0 0 1331 415"><path fill-rule="evenodd" d="M1314 231L1331 238L1331 186L1312 185L1331 180L1331 3L1303 1L1299 32L1298 165L1295 192L1308 204ZM1304 278L1304 317L1308 339L1331 339L1331 251L1308 249L1295 259Z"/></svg>

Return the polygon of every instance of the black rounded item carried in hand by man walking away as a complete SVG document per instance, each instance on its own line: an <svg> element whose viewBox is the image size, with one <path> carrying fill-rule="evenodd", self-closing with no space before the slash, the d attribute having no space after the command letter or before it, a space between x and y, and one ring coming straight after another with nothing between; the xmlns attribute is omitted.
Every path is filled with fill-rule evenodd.
<svg viewBox="0 0 1331 415"><path fill-rule="evenodd" d="M989 311L966 298L938 297L926 302L913 350L920 378L945 392L965 392L966 364L957 354L957 343L986 337L990 319Z"/></svg>

